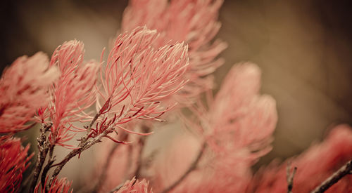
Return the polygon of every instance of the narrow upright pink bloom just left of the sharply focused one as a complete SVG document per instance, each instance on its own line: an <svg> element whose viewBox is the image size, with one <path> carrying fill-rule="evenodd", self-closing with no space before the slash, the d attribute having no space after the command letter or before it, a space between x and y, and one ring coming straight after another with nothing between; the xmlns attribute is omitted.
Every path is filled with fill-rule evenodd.
<svg viewBox="0 0 352 193"><path fill-rule="evenodd" d="M83 111L95 102L95 83L100 65L94 61L83 64L83 44L68 41L58 46L51 57L51 66L61 71L51 89L49 112L53 126L49 136L52 144L65 146L73 138L69 133L74 121L90 118Z"/></svg>

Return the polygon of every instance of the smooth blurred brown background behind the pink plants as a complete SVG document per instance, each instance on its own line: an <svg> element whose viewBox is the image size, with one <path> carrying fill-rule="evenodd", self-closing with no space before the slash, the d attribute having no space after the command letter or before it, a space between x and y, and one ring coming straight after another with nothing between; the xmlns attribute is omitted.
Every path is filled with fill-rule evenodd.
<svg viewBox="0 0 352 193"><path fill-rule="evenodd" d="M85 60L99 59L126 6L125 0L3 1L1 71L21 55L51 55L70 39L84 42ZM263 71L262 93L277 100L274 148L257 167L302 152L335 124L352 124L350 1L225 0L219 20L218 38L229 47L215 72L217 88L232 65L249 60Z"/></svg>

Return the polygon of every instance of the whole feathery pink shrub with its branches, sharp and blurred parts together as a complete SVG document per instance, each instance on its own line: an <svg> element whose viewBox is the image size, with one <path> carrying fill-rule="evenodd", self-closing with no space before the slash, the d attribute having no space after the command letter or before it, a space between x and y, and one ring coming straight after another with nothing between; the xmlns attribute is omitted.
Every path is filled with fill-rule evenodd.
<svg viewBox="0 0 352 193"><path fill-rule="evenodd" d="M58 46L51 60L44 53L15 60L0 80L0 133L5 133L0 136L0 192L20 188L32 154L13 133L35 123L42 124L37 177L47 164L41 182L34 179L33 192L73 192L72 181L58 179L58 173L102 138L114 143L101 146L99 164L110 164L95 192L114 187L118 193L285 192L287 161L256 174L251 169L270 152L277 124L275 100L260 94L259 67L234 65L213 98L211 73L224 62L218 55L226 48L214 40L221 5L221 0L131 0L122 19L124 33L116 37L106 63L104 51L99 62L84 61L84 46L76 40ZM146 161L144 138L152 132L144 128L153 126L146 120L161 121L177 105L191 112L174 114L188 130ZM26 125L30 121L34 124ZM89 125L80 128L77 121ZM86 135L75 138L77 132ZM79 145L68 145L72 140ZM124 145L109 154L116 143ZM57 162L56 145L73 150ZM324 142L289 159L298 167L294 192L313 190L351 155L351 128L337 126ZM51 178L46 176L50 168L56 173ZM346 177L329 192L351 192L351 182Z"/></svg>

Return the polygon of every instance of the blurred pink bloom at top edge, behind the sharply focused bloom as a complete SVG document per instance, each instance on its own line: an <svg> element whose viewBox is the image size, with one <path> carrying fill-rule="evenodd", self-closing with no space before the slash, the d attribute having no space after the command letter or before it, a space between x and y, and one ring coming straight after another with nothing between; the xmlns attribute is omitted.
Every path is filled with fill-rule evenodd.
<svg viewBox="0 0 352 193"><path fill-rule="evenodd" d="M146 25L157 29L161 36L156 47L184 41L189 45L190 67L185 74L189 83L178 93L177 100L189 102L190 96L213 86L206 76L223 64L215 59L226 48L220 40L211 42L220 29L218 11L222 0L131 0L122 18L122 30Z"/></svg>

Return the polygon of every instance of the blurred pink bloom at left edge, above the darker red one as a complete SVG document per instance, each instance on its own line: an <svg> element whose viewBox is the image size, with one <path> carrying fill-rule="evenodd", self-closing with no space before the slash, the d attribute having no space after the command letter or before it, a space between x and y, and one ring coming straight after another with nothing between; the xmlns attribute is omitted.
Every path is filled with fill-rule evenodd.
<svg viewBox="0 0 352 193"><path fill-rule="evenodd" d="M49 101L48 89L58 75L44 53L20 57L5 69L0 80L0 133L28 128L24 124Z"/></svg>

